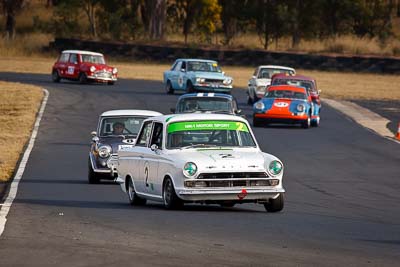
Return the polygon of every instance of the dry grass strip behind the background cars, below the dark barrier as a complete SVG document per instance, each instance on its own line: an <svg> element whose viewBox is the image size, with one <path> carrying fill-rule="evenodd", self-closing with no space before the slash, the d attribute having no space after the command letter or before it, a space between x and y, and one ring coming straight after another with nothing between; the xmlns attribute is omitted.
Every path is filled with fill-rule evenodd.
<svg viewBox="0 0 400 267"><path fill-rule="evenodd" d="M1 58L0 72L23 72L49 74L54 59L51 58ZM110 61L117 67L120 78L162 80L163 71L168 64ZM251 67L223 66L227 75L234 78L234 86L246 88L254 69ZM298 73L315 77L322 97L336 99L400 99L400 76L364 73L341 73L327 71L297 70Z"/></svg>

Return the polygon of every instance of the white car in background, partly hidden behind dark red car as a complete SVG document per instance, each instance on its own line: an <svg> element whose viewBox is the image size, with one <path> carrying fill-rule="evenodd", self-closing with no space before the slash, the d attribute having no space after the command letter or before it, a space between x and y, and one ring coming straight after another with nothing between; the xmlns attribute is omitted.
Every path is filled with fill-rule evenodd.
<svg viewBox="0 0 400 267"><path fill-rule="evenodd" d="M274 65L258 66L254 70L247 88L247 103L249 105L257 102L264 96L266 87L271 84L272 76L277 73L294 75L296 71L293 68Z"/></svg>

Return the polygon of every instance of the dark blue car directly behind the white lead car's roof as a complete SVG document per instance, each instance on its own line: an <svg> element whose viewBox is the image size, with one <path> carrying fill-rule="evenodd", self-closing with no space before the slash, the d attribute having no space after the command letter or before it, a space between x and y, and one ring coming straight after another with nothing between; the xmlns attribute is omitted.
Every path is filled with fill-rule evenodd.
<svg viewBox="0 0 400 267"><path fill-rule="evenodd" d="M192 93L178 98L174 113L224 113L240 115L236 99L220 93Z"/></svg>

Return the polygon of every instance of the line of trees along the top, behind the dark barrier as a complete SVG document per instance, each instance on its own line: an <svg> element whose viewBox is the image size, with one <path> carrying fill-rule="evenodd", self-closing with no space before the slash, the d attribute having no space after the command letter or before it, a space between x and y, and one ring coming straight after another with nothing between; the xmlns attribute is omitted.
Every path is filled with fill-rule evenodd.
<svg viewBox="0 0 400 267"><path fill-rule="evenodd" d="M0 0L7 38L15 36L16 15L29 0ZM35 17L37 30L55 36L89 34L92 38L163 40L170 33L212 43L216 33L229 45L242 33L257 33L265 49L282 37L292 47L302 39L325 39L345 34L393 37L400 0L47 0L50 21ZM82 27L82 17L88 28Z"/></svg>

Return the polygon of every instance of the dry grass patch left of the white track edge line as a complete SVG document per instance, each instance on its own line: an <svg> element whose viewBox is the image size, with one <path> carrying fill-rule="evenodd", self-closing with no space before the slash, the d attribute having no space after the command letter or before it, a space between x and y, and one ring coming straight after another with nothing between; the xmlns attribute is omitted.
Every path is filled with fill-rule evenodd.
<svg viewBox="0 0 400 267"><path fill-rule="evenodd" d="M39 110L40 88L0 81L0 181L11 178Z"/></svg>

